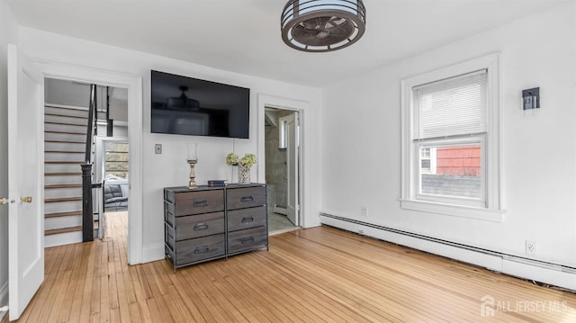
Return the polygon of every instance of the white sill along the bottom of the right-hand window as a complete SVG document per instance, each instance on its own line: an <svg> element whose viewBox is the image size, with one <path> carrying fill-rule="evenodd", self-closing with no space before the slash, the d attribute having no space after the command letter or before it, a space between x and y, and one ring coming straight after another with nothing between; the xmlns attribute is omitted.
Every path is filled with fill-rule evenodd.
<svg viewBox="0 0 576 323"><path fill-rule="evenodd" d="M460 218L486 220L502 223L504 221L504 210L480 209L461 205L443 204L437 202L400 200L401 208L405 210L437 213Z"/></svg>

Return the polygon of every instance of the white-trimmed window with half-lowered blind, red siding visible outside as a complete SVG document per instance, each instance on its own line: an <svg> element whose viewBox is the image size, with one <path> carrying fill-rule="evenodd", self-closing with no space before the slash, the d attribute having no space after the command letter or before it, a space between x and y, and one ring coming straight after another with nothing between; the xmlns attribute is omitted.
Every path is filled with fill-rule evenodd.
<svg viewBox="0 0 576 323"><path fill-rule="evenodd" d="M402 81L402 208L501 220L498 56Z"/></svg>

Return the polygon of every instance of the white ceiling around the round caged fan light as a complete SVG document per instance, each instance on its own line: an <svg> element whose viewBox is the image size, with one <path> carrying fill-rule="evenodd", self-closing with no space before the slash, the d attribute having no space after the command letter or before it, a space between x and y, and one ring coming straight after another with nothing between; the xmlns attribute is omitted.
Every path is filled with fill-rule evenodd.
<svg viewBox="0 0 576 323"><path fill-rule="evenodd" d="M19 24L253 76L322 87L567 0L365 0L347 49L284 45L287 0L6 0Z"/></svg>

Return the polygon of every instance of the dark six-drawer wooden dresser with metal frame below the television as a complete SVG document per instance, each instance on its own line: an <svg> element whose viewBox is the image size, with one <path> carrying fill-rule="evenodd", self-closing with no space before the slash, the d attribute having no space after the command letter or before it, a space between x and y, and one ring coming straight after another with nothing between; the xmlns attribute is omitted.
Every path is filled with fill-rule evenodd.
<svg viewBox="0 0 576 323"><path fill-rule="evenodd" d="M266 184L164 189L166 259L178 267L268 247Z"/></svg>

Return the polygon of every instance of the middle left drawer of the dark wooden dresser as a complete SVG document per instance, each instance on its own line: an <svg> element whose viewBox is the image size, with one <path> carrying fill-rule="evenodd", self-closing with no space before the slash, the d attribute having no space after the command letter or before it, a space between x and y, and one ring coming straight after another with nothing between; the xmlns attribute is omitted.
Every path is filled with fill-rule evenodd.
<svg viewBox="0 0 576 323"><path fill-rule="evenodd" d="M224 233L224 212L177 217L175 222L176 241Z"/></svg>

